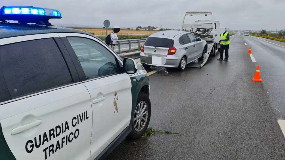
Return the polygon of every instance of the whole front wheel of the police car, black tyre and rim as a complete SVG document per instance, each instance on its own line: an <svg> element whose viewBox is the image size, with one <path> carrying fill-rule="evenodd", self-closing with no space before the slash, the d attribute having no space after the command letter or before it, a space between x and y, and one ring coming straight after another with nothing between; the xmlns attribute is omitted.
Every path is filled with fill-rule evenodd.
<svg viewBox="0 0 285 160"><path fill-rule="evenodd" d="M147 130L151 117L151 102L146 93L139 93L134 110L134 119L132 123L132 132L129 134L130 139L138 139Z"/></svg>

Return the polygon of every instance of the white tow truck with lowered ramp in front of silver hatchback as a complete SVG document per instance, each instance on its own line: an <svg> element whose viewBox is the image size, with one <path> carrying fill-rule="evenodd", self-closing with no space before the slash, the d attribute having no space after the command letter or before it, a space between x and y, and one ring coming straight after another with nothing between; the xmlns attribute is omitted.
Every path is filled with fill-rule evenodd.
<svg viewBox="0 0 285 160"><path fill-rule="evenodd" d="M196 20L194 23L185 23L186 16L203 15L211 20ZM210 55L215 56L220 48L220 28L219 21L215 21L212 12L186 12L183 18L181 30L189 30L197 38L205 40L208 44L207 54L204 54L203 60L198 59L189 63L186 67L201 68L205 65Z"/></svg>

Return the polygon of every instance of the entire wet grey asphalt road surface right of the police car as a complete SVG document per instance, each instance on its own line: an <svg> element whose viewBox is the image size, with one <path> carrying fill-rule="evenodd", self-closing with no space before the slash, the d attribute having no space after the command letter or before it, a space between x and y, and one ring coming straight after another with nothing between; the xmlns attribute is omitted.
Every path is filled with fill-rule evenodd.
<svg viewBox="0 0 285 160"><path fill-rule="evenodd" d="M255 63L247 54L249 46ZM285 117L285 48L235 35L229 61L218 57L201 69L149 76L149 127L184 135L126 140L106 159L285 159L285 138L277 122ZM251 81L257 65L263 82Z"/></svg>

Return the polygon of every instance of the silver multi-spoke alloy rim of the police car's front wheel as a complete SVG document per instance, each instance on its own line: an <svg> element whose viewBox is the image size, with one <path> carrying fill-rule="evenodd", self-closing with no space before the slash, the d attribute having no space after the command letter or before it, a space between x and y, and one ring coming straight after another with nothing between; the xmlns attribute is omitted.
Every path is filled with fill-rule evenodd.
<svg viewBox="0 0 285 160"><path fill-rule="evenodd" d="M136 109L134 111L134 129L137 132L140 132L145 127L145 124L147 124L147 118L148 118L148 106L147 102L141 101L136 106Z"/></svg>

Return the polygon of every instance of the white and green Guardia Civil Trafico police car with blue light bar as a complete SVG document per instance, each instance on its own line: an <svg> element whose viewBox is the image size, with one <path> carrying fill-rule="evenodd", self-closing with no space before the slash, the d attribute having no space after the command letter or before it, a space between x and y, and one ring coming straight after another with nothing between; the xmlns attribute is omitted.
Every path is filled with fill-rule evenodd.
<svg viewBox="0 0 285 160"><path fill-rule="evenodd" d="M0 9L0 159L102 159L148 127L146 71L52 18L61 13Z"/></svg>

